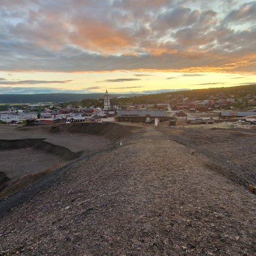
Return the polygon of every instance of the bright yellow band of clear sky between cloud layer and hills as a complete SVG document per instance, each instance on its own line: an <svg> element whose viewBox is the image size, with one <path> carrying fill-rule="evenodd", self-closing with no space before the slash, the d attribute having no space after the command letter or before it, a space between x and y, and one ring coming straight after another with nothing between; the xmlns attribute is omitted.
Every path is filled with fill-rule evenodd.
<svg viewBox="0 0 256 256"><path fill-rule="evenodd" d="M256 82L256 75L241 73L177 73L160 71L112 71L105 73L0 73L0 93L8 86L22 93L154 93L230 87ZM6 77L6 78L5 78ZM39 79L38 79L39 78ZM22 89L22 91L20 90ZM37 90L36 90L37 89ZM12 91L12 93L14 93Z"/></svg>

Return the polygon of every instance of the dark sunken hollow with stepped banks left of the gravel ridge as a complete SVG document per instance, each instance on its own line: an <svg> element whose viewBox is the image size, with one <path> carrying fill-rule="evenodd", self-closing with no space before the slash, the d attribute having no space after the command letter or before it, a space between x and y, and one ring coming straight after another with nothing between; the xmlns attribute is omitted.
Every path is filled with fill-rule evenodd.
<svg viewBox="0 0 256 256"><path fill-rule="evenodd" d="M4 173L0 177L0 199L17 193L42 178L42 174L55 170L55 166L107 147L109 139L92 135L97 135L97 129L95 124L0 126L0 157Z"/></svg>

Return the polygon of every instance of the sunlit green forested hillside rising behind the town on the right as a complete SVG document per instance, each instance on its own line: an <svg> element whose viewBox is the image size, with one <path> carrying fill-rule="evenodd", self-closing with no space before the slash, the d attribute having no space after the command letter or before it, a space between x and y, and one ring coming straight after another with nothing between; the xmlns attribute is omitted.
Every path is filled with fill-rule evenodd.
<svg viewBox="0 0 256 256"><path fill-rule="evenodd" d="M233 96L235 98L243 98L246 97L247 94L256 95L256 84L140 95L129 99L118 99L118 102L121 104L127 102L133 104L161 102L163 103L169 101L172 98L188 98L188 100L206 100L212 96L221 97L222 93L223 95L225 95L226 98L231 98Z"/></svg>

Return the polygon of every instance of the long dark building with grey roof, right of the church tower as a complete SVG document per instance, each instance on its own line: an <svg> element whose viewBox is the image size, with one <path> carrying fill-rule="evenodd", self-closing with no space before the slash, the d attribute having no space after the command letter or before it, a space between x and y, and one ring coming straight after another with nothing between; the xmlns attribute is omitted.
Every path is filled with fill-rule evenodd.
<svg viewBox="0 0 256 256"><path fill-rule="evenodd" d="M118 110L117 121L118 122L131 122L131 123L154 123L155 118L158 118L160 122L167 120L167 114L165 110L146 110L146 109L134 109L134 110Z"/></svg>

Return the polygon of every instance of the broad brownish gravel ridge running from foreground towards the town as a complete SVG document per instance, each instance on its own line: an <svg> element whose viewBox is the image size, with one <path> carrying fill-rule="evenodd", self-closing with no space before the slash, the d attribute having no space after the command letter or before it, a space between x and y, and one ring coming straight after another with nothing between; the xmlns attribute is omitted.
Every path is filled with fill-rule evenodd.
<svg viewBox="0 0 256 256"><path fill-rule="evenodd" d="M0 255L255 255L255 195L211 168L227 141L183 132L149 126L70 165L0 220Z"/></svg>

